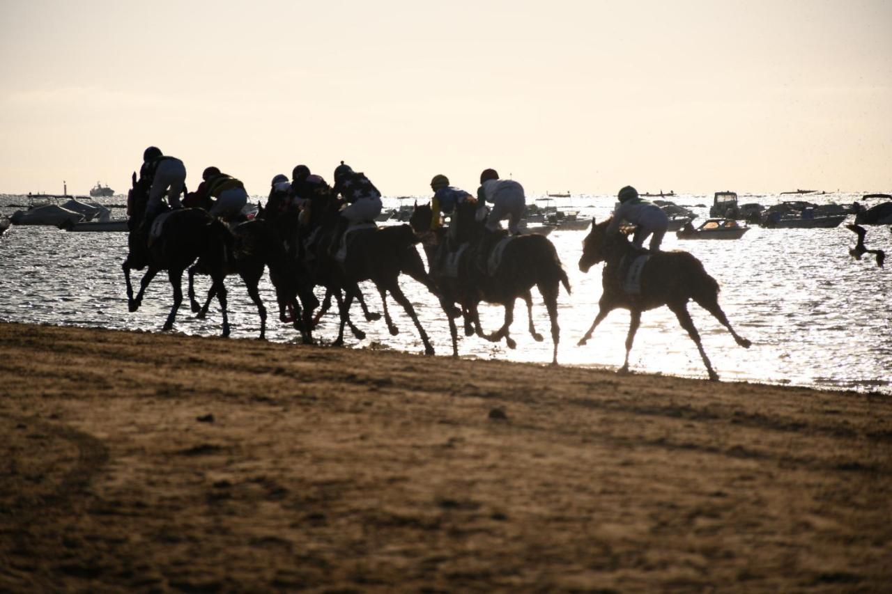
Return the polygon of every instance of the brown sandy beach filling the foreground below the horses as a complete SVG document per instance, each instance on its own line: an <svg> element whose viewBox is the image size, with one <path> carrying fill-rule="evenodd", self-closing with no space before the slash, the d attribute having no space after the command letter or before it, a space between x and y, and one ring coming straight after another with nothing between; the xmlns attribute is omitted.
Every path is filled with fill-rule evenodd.
<svg viewBox="0 0 892 594"><path fill-rule="evenodd" d="M0 591L888 591L892 400L0 324Z"/></svg>

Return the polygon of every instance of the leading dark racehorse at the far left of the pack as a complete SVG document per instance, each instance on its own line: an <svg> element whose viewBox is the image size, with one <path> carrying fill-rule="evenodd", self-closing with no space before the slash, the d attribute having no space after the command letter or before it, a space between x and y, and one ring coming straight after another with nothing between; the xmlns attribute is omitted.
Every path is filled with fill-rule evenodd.
<svg viewBox="0 0 892 594"><path fill-rule="evenodd" d="M128 309L136 311L143 302L145 289L161 270L168 271L170 285L173 286L173 307L164 322L164 331L173 328L177 310L183 302L183 272L196 259L202 258L211 276L211 291L217 295L220 309L223 310L223 336L229 335L227 317L227 293L223 279L227 258L227 246L232 241L229 229L219 220L202 209L179 209L169 212L161 226L161 233L150 242L150 229L145 226L145 206L148 203L149 188L136 183L128 192L128 256L121 268L127 282ZM159 215L162 216L162 215ZM133 295L130 285L130 270L147 268L140 281L139 292Z"/></svg>

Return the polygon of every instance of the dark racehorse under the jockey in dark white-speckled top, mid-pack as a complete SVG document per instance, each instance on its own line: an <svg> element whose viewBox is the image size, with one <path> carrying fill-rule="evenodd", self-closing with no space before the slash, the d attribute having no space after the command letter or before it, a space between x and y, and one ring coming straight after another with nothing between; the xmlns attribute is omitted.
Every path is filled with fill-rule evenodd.
<svg viewBox="0 0 892 594"><path fill-rule="evenodd" d="M434 347L424 327L418 321L411 301L402 293L399 283L400 275L405 273L425 285L434 295L437 294L436 286L428 276L424 262L415 248L418 240L412 229L408 225L356 231L348 228L346 235L354 233L356 235L345 238L349 246L346 257L341 262L332 253L338 249L338 246L332 244L335 241L335 228L338 227L340 217L337 207L338 202L330 196L310 199L310 228L314 230L311 232L310 248L307 250L307 257L312 260L308 262L308 268L313 268L317 272L318 283L334 291L335 297L338 298L341 326L335 343L343 342L343 328L349 322L352 300L361 299L359 282L370 280L381 295L384 321L390 334L399 334L400 330L393 324L390 311L387 309L387 293L392 295L394 301L397 301L412 319L421 342L425 345L425 354L433 355ZM340 299L341 290L345 293L343 301Z"/></svg>

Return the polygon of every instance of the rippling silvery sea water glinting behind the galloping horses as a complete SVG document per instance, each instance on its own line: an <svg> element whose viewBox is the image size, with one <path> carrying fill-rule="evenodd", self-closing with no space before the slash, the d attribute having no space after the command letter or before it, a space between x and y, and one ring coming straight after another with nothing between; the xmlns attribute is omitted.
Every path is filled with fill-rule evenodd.
<svg viewBox="0 0 892 594"><path fill-rule="evenodd" d="M860 194L830 194L806 199L849 203ZM10 214L14 198L0 202L0 213ZM116 204L122 198L104 199ZM711 196L680 195L682 205L708 204ZM19 199L18 202L21 202ZM396 205L385 200L385 208ZM741 202L780 202L778 196L741 196ZM558 206L568 206L558 200ZM575 210L601 219L610 212L607 196L578 196ZM708 209L695 208L701 219ZM121 210L114 210L121 217ZM584 231L556 231L549 239L558 248L570 277L573 294L561 289L559 323L561 345L558 360L566 365L615 368L623 364L624 341L629 315L616 310L598 327L584 347L575 346L591 325L601 294L600 266L583 275L577 267ZM871 259L853 261L848 248L855 235L845 227L834 229L752 228L738 241L679 241L666 235L664 249L681 248L694 253L722 286L720 302L738 333L753 342L741 349L722 326L704 309L691 303L694 323L703 337L706 353L723 379L806 385L818 388L847 388L892 393L892 278L888 269L877 268ZM892 253L888 227L868 227L868 247ZM142 308L128 313L120 263L127 252L122 233L68 233L54 227L15 227L0 237L0 320L71 326L101 326L128 330L160 331L171 301L170 285L160 275L150 285ZM141 273L136 273L136 279ZM201 295L209 281L199 278ZM230 289L230 322L233 336L253 338L259 318L237 276L227 280ZM422 325L438 354L450 353L449 328L442 310L422 285L403 277L403 290L413 301ZM362 286L369 306L381 310L373 285ZM185 283L184 283L185 291ZM299 342L293 328L282 326L273 314L275 294L268 279L260 285L261 296L270 308L268 339ZM321 293L319 294L321 298ZM536 295L539 299L539 296ZM216 303L216 301L215 301ZM399 305L390 302L401 334L391 336L384 320L365 322L359 311L354 318L368 337L348 342L356 347L391 348L422 352L415 328ZM502 309L483 305L484 329L502 322ZM533 309L537 329L545 342L534 342L526 331L524 302L517 303L512 335L515 351L504 343L463 338L459 353L481 359L511 359L548 363L551 360L549 322L541 300ZM219 309L211 308L208 319L193 318L188 305L180 309L175 330L184 334L219 334ZM333 312L323 319L317 335L334 340L337 318ZM460 328L459 328L460 332ZM349 333L348 333L349 334ZM300 350L295 351L300 357ZM696 346L668 309L645 312L630 359L634 371L705 377Z"/></svg>

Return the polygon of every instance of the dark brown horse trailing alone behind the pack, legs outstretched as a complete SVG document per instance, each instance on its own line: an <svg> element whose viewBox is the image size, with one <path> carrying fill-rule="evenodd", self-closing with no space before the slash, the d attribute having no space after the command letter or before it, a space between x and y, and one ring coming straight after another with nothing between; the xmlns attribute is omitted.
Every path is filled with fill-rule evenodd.
<svg viewBox="0 0 892 594"><path fill-rule="evenodd" d="M629 243L625 235L616 234L607 237L609 224L610 219L598 224L595 223L595 219L591 219L591 232L582 243L582 257L579 259L579 269L582 272L588 272L589 268L598 262L606 262L606 266L602 273L604 292L599 301L598 315L589 331L582 336L579 345L588 342L595 327L601 320L607 318L608 313L617 308L628 309L632 319L629 324L629 334L625 339L625 362L620 369L621 373L626 373L629 371L629 352L632 351L632 342L641 322L641 312L665 305L673 311L681 327L688 331L691 340L697 344L700 357L706 364L709 379L717 380L719 376L706 357L706 351L700 342L700 334L690 318L688 301L696 301L700 307L711 313L728 328L740 346L748 349L750 345L746 338L741 338L734 332L719 306L719 284L706 273L703 263L690 253L657 252L651 253L649 260L641 268L640 294L627 293L623 286L624 279L621 278L622 271L642 252L632 247L632 243Z"/></svg>

